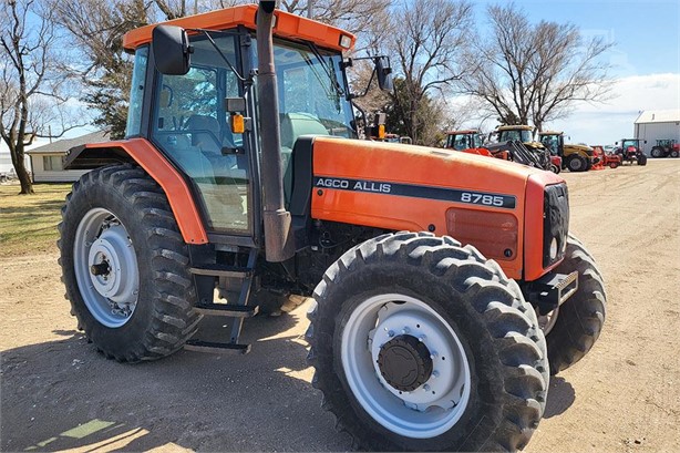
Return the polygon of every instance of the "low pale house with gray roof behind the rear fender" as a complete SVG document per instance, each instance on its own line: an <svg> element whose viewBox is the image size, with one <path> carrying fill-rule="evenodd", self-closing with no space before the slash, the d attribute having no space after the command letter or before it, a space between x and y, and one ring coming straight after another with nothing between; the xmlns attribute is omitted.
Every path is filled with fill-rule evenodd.
<svg viewBox="0 0 680 453"><path fill-rule="evenodd" d="M107 142L110 138L104 132L93 132L87 135L70 140L60 140L43 146L27 151L31 156L34 183L70 183L78 181L87 173L86 169L64 169L63 158L72 147L86 143Z"/></svg>

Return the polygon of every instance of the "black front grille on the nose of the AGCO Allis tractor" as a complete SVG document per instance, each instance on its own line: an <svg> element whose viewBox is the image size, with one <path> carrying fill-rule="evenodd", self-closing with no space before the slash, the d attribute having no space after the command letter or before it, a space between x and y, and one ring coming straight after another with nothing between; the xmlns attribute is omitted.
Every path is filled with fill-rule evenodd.
<svg viewBox="0 0 680 453"><path fill-rule="evenodd" d="M569 233L569 192L565 183L546 186L543 198L543 267L564 258ZM550 244L557 239L557 256L550 257Z"/></svg>

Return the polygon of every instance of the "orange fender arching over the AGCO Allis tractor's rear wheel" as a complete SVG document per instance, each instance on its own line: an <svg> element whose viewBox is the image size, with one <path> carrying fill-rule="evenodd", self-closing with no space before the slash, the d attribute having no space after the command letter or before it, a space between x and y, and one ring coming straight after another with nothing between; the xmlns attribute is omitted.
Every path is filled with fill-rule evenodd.
<svg viewBox="0 0 680 453"><path fill-rule="evenodd" d="M104 165L135 163L165 192L186 244L207 244L208 236L187 182L145 138L92 143L71 148L65 169L93 169Z"/></svg>

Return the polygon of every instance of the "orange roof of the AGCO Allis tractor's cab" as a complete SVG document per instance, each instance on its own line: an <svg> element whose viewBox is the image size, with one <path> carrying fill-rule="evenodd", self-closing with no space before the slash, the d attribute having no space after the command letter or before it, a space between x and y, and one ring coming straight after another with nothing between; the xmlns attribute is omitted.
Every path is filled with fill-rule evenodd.
<svg viewBox="0 0 680 453"><path fill-rule="evenodd" d="M247 29L255 30L256 13L256 4L244 4L203 14L187 16L162 23L178 25L184 29L228 30L238 25L244 25ZM337 51L351 50L357 42L357 38L353 34L336 27L280 10L275 10L274 13L276 16L274 27L275 37L312 41L321 48ZM156 25L157 24L145 25L125 33L123 37L123 47L125 50L134 51L140 45L148 44L151 42L152 31ZM340 45L342 37L349 38L349 48Z"/></svg>

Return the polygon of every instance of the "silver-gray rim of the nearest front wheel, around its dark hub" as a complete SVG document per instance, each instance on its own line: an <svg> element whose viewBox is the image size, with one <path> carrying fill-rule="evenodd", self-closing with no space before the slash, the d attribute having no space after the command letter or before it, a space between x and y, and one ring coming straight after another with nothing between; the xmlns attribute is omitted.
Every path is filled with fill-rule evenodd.
<svg viewBox="0 0 680 453"><path fill-rule="evenodd" d="M416 336L432 353L432 375L411 392L391 387L375 364L381 346L395 332ZM430 439L443 434L467 408L472 374L463 346L434 309L413 297L389 294L361 302L342 332L341 361L361 406L399 435Z"/></svg>

